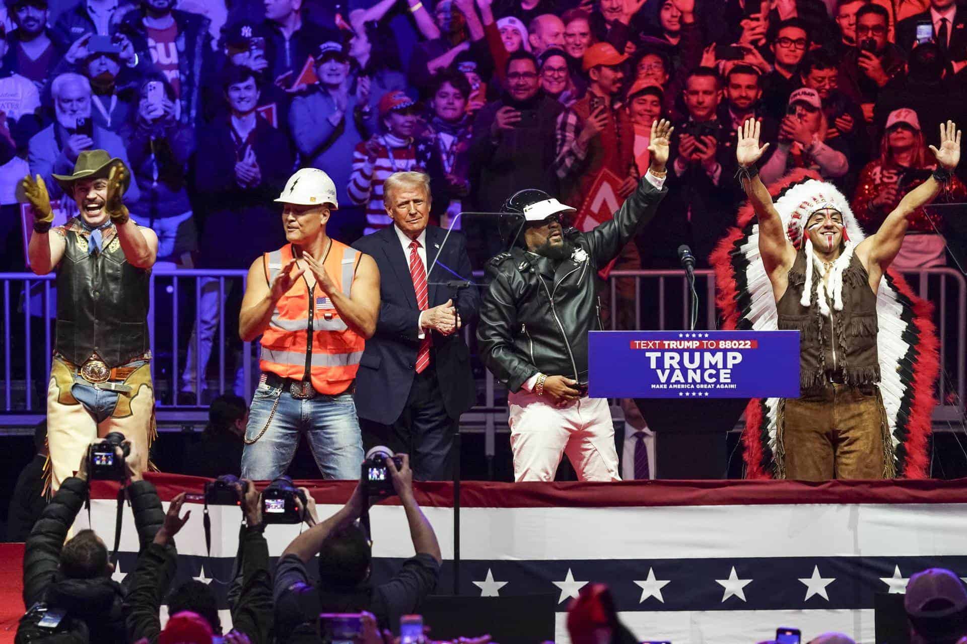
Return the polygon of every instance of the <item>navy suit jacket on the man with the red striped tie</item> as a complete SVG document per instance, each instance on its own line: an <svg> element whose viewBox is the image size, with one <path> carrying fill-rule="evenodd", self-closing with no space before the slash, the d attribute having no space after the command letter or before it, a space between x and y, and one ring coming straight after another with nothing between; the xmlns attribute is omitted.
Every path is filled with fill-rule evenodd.
<svg viewBox="0 0 967 644"><path fill-rule="evenodd" d="M444 243L446 235L442 228L426 227L426 267L430 271L426 276L428 308L453 299L460 321L465 325L477 319L481 294L475 286L456 289L441 284L473 279L466 238L454 231ZM417 336L420 308L410 277L409 258L399 243L395 226L357 239L353 248L376 261L380 294L376 333L366 340L356 375L356 410L360 418L391 425L402 413L413 385L414 363L421 342ZM433 266L438 254L437 265ZM447 413L457 418L477 400L470 350L463 341L462 330L450 336L431 333L433 345L428 369L436 370Z"/></svg>

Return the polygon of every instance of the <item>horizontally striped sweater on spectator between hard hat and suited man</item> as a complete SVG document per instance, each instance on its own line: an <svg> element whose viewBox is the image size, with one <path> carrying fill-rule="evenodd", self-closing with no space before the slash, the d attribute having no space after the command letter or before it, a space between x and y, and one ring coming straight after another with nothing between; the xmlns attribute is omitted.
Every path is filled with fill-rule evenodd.
<svg viewBox="0 0 967 644"><path fill-rule="evenodd" d="M383 206L383 182L395 172L422 170L417 163L416 145L413 139L400 139L393 134L379 137L379 153L376 160L366 159L366 142L356 146L353 152L353 174L349 177L349 200L357 206L366 206L365 235L386 228L393 220Z"/></svg>

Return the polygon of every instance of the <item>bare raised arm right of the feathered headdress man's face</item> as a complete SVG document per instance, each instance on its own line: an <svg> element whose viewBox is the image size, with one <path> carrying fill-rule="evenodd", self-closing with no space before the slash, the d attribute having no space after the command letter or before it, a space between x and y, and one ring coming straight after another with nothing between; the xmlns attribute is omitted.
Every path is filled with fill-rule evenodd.
<svg viewBox="0 0 967 644"><path fill-rule="evenodd" d="M876 234L865 238L857 247L857 256L861 261L865 260L867 268L875 265L886 270L890 266L903 243L910 216L933 201L960 162L960 130L952 121L940 124L940 149L930 146L930 152L937 157L939 166L933 176L908 192ZM941 181L937 181L938 176Z"/></svg>

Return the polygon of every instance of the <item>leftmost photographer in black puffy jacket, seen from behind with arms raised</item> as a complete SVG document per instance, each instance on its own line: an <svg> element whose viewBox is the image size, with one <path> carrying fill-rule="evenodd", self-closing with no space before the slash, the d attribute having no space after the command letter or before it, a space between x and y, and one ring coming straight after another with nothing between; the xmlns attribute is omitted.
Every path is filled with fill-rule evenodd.
<svg viewBox="0 0 967 644"><path fill-rule="evenodd" d="M100 444L96 440L91 444ZM124 444L129 444L125 441ZM141 460L131 444L125 457L115 447L131 485L128 498L134 513L140 549L155 537L163 521L161 502L155 487L142 480ZM91 642L122 642L125 639L122 601L124 589L114 581L114 565L108 560L107 546L94 530L81 530L64 543L74 518L80 512L88 488L88 450L84 451L77 474L66 479L27 538L23 555L23 604L31 607L45 602L49 610L66 611L57 628L37 625L35 611L28 611L20 621L16 641L37 641L47 635L72 630L87 630ZM83 622L85 626L80 626Z"/></svg>

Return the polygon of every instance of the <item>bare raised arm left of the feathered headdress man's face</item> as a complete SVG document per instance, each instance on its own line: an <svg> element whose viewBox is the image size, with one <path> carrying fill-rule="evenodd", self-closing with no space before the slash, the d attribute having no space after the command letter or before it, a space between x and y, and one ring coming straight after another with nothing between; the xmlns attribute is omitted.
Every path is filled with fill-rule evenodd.
<svg viewBox="0 0 967 644"><path fill-rule="evenodd" d="M755 163L769 148L768 143L759 147L760 127L759 122L754 119L748 119L745 125L739 127L735 156L739 163L742 187L746 190L748 201L752 204L752 210L755 210L755 217L759 222L759 255L762 256L766 274L772 276L777 269L788 270L792 266L796 251L782 230L782 219L773 206L769 190L753 170Z"/></svg>

